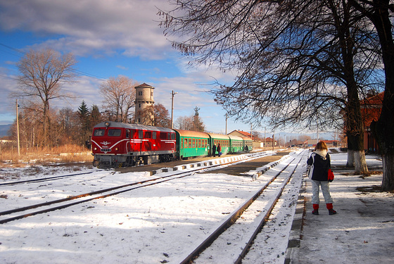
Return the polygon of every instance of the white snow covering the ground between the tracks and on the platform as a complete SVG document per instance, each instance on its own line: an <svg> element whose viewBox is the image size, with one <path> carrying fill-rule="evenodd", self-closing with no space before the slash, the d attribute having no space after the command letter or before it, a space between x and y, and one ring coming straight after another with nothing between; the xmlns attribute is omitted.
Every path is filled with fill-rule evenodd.
<svg viewBox="0 0 394 264"><path fill-rule="evenodd" d="M345 165L345 154L333 153L331 160ZM373 157L367 163L381 161ZM0 211L149 178L144 172L82 172L92 173L50 183L0 186L0 197L4 197L0 198ZM320 215L310 214L307 184L303 239L293 262L355 263L357 256L364 261L357 258L357 263L388 263L393 259L393 194L357 191L358 186L381 184L381 175L362 179L345 175L348 172L336 172L331 185L337 215L328 215L324 208ZM0 173L8 172L4 169ZM23 175L23 170L19 173ZM195 174L8 222L0 225L0 263L179 263L264 181L265 177L253 181L250 177ZM289 215L280 221L291 225ZM274 233L272 230L271 238L263 238L260 246L265 244L266 248L259 248L260 252L287 244L287 237L275 237ZM283 263L283 259L262 253L255 261Z"/></svg>

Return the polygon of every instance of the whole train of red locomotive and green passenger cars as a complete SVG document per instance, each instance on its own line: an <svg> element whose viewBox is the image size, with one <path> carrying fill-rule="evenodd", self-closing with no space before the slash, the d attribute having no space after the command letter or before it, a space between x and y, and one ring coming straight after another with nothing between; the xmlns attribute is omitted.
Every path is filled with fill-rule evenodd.
<svg viewBox="0 0 394 264"><path fill-rule="evenodd" d="M213 156L213 144L223 155L253 149L247 137L106 121L93 128L91 154L96 167L121 168Z"/></svg>

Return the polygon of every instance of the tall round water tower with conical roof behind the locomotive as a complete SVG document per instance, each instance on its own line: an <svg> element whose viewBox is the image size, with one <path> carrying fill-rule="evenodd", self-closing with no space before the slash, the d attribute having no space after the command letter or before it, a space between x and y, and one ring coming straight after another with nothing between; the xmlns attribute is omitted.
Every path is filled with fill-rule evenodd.
<svg viewBox="0 0 394 264"><path fill-rule="evenodd" d="M144 109L148 106L153 106L153 89L155 87L143 83L139 86L135 87L136 89L136 101L135 101L135 120L137 124L142 124L142 117L141 114L144 111ZM146 125L146 124L142 124Z"/></svg>

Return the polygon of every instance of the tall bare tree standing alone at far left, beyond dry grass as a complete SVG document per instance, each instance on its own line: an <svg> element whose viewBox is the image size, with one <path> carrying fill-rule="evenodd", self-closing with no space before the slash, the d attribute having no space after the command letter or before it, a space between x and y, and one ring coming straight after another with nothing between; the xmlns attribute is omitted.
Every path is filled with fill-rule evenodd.
<svg viewBox="0 0 394 264"><path fill-rule="evenodd" d="M71 98L62 92L63 84L75 77L76 61L72 54L61 56L52 49L31 50L18 63L20 89L11 96L24 99L25 108L42 115L42 144L49 144L50 102L53 99Z"/></svg>

